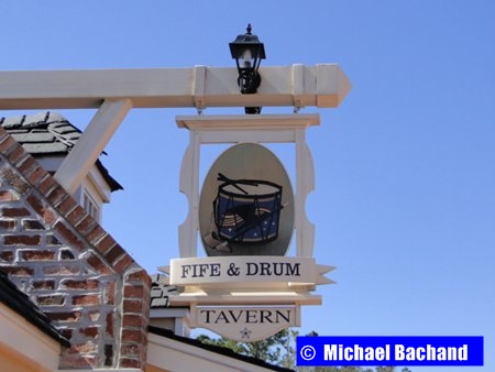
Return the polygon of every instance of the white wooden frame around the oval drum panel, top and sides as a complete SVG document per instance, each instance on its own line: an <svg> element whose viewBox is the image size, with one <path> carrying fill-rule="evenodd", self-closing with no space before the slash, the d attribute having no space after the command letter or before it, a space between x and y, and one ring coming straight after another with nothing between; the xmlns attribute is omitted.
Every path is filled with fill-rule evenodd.
<svg viewBox="0 0 495 372"><path fill-rule="evenodd" d="M306 216L305 204L315 189L315 168L305 131L320 123L319 114L183 116L176 117L176 122L190 131L180 167L180 192L189 201L187 218L179 227L182 258L197 256L201 145L241 142L296 144L296 253L312 256L315 226Z"/></svg>

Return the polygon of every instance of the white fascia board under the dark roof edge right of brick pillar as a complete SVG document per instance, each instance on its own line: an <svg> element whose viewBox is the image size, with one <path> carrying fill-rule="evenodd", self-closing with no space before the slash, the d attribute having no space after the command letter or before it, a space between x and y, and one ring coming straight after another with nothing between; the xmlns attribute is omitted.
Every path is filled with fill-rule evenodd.
<svg viewBox="0 0 495 372"><path fill-rule="evenodd" d="M147 341L146 363L167 371L272 371L260 365L154 333L147 335Z"/></svg>

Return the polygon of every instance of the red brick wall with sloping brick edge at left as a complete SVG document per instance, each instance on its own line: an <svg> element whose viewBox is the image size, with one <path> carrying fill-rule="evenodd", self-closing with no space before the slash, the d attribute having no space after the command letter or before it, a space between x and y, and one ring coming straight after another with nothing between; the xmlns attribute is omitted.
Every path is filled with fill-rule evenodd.
<svg viewBox="0 0 495 372"><path fill-rule="evenodd" d="M70 340L61 368L143 368L146 272L0 128L0 270Z"/></svg>

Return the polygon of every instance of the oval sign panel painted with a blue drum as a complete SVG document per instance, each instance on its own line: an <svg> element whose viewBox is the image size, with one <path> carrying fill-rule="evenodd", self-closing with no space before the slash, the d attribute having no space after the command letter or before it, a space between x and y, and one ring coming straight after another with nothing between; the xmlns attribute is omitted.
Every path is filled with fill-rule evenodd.
<svg viewBox="0 0 495 372"><path fill-rule="evenodd" d="M199 231L208 255L284 255L294 230L294 193L280 161L265 146L241 143L208 172Z"/></svg>

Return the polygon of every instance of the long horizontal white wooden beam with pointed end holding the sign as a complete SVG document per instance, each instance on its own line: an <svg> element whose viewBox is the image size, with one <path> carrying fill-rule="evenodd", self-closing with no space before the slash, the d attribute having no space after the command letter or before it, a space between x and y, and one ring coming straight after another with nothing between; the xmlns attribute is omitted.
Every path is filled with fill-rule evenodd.
<svg viewBox="0 0 495 372"><path fill-rule="evenodd" d="M0 72L0 110L340 105L351 84L336 64L262 67L256 94L241 95L231 67Z"/></svg>

